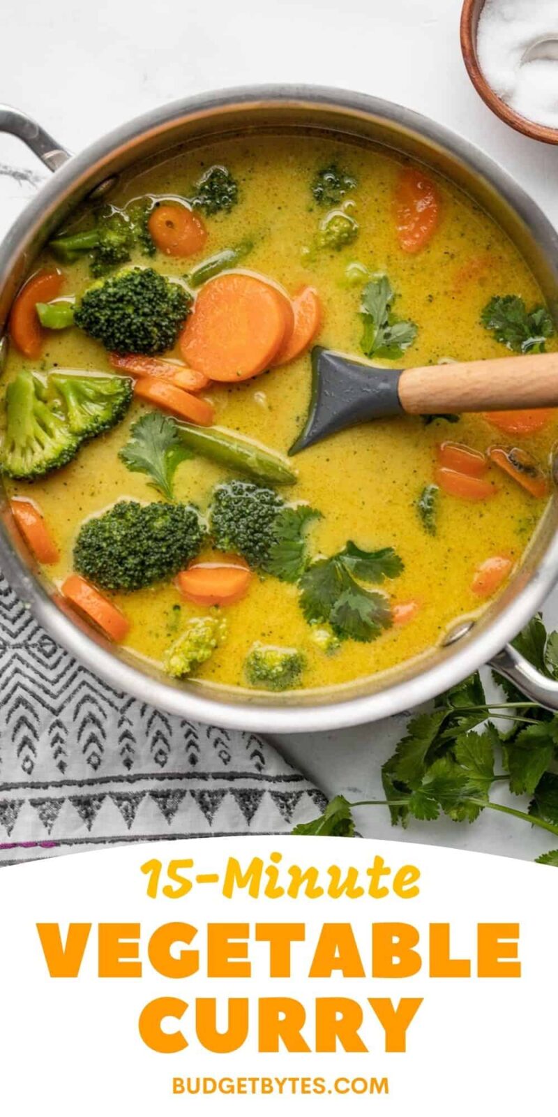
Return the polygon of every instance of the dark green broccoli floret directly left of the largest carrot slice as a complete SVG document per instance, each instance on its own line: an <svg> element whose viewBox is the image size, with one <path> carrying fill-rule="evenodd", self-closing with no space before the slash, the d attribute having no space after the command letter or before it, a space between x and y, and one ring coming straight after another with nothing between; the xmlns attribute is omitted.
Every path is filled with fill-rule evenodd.
<svg viewBox="0 0 558 1117"><path fill-rule="evenodd" d="M131 268L86 290L74 321L109 351L150 355L173 347L191 303L153 268Z"/></svg>

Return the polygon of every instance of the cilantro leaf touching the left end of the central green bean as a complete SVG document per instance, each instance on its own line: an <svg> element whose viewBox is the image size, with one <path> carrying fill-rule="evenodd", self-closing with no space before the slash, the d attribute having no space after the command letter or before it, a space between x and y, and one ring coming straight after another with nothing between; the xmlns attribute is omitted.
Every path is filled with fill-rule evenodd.
<svg viewBox="0 0 558 1117"><path fill-rule="evenodd" d="M174 419L160 411L150 411L133 424L129 433L129 441L118 457L131 472L147 474L151 477L147 484L167 500L173 500L176 467L193 457L182 442Z"/></svg>

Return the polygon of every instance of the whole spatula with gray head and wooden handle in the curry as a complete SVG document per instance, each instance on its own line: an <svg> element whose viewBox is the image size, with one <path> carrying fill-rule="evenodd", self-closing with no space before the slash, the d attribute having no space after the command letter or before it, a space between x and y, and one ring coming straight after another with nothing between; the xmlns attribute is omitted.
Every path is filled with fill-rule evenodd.
<svg viewBox="0 0 558 1117"><path fill-rule="evenodd" d="M558 407L558 353L381 369L316 345L311 362L308 418L290 455L371 419Z"/></svg>

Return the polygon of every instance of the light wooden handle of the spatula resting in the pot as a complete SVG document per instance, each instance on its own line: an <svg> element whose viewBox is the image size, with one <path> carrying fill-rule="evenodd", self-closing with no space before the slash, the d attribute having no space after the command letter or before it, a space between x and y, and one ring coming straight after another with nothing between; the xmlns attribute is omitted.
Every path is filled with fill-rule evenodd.
<svg viewBox="0 0 558 1117"><path fill-rule="evenodd" d="M413 416L557 408L558 353L405 369L398 393Z"/></svg>

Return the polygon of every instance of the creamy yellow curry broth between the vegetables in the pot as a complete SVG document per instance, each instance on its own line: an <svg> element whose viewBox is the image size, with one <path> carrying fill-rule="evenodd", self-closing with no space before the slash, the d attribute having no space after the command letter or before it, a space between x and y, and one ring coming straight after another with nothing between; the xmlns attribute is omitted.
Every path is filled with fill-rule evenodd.
<svg viewBox="0 0 558 1117"><path fill-rule="evenodd" d="M311 245L323 211L311 204L309 184L316 169L333 156L358 179L348 211L358 220L359 236L339 252L315 252ZM208 218L203 254L184 261L157 254L155 267L169 275L183 275L204 256L250 236L254 248L246 267L271 276L290 294L308 283L318 288L325 308L323 344L359 351L362 285L347 286L345 278L352 260L373 271L386 271L398 293L395 312L419 327L416 342L397 364L503 356L506 350L479 323L482 307L493 294L521 295L528 306L540 300L530 271L502 231L444 181L439 183L442 217L435 236L422 252L404 254L395 237L392 201L400 164L378 151L292 136L230 141L182 154L128 179L114 201L119 204L146 192L184 192L200 169L214 162L227 163L241 181L240 203L230 214ZM67 275L68 294L79 294L89 281L85 265L68 268ZM8 376L26 363L12 350ZM104 350L75 330L52 335L44 366L54 364L109 370ZM285 452L304 423L309 390L310 363L305 354L241 385L212 386L206 397L215 405L218 423ZM142 410L134 403L119 427L85 446L66 469L32 486L9 484L11 493L37 500L60 545L60 562L50 567L55 581L71 570L74 540L85 517L123 497L157 498L145 476L131 474L117 458L131 423ZM521 446L546 461L555 436L556 424L536 437L522 438ZM470 503L441 494L437 535L427 535L414 502L433 480L435 448L444 439L482 450L496 442L513 443L473 416L456 424L439 421L427 427L416 419L369 423L294 459L298 484L283 490L288 499L305 500L321 510L323 519L310 533L316 553L330 554L347 540L366 548L396 550L405 570L385 588L394 602L419 602L420 610L410 623L393 628L372 643L345 641L328 656L311 640L296 588L254 575L248 596L224 610L227 640L198 676L228 686L242 685L246 655L261 640L304 651L305 686L343 684L423 653L459 617L478 611L479 599L471 592L475 567L494 554L519 561L545 503L491 468L497 496ZM176 472L176 497L204 509L215 483L228 476L202 458L185 461ZM187 617L206 612L184 602L170 584L116 595L115 601L132 622L126 643L155 661L161 660Z"/></svg>

